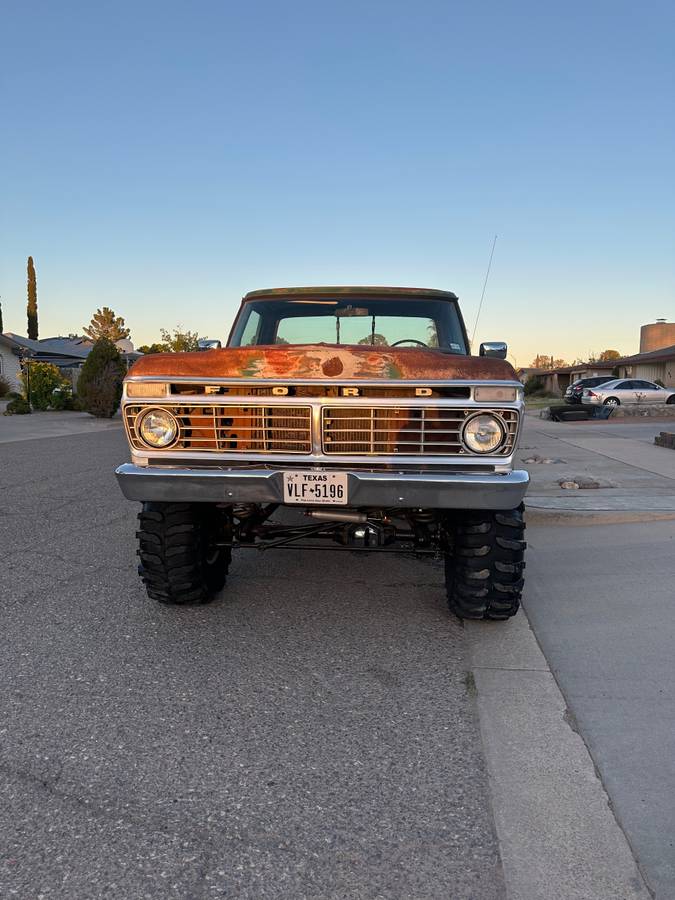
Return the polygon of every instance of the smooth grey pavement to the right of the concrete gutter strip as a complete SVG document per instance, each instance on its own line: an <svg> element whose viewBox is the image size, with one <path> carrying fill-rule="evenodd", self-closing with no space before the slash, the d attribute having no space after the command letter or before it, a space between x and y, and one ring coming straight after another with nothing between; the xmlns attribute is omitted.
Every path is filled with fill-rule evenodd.
<svg viewBox="0 0 675 900"><path fill-rule="evenodd" d="M673 900L675 521L528 535L532 628L648 885Z"/></svg>

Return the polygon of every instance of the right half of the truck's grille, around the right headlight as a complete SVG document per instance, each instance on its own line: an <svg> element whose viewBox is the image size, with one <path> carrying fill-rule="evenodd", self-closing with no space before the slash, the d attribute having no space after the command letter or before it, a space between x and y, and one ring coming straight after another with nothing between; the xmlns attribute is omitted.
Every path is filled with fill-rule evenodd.
<svg viewBox="0 0 675 900"><path fill-rule="evenodd" d="M515 410L457 409L444 406L330 406L322 410L323 452L331 455L456 456L467 453L461 442L466 419L497 412L506 440L497 455L508 456L518 431Z"/></svg>

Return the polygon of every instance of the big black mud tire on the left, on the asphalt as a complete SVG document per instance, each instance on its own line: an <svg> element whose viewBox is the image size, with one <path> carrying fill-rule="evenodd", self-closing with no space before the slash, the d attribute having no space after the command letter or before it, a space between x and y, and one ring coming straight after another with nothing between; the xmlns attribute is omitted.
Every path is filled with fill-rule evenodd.
<svg viewBox="0 0 675 900"><path fill-rule="evenodd" d="M148 596L174 605L209 603L225 585L231 551L221 510L203 503L144 503L138 572Z"/></svg>

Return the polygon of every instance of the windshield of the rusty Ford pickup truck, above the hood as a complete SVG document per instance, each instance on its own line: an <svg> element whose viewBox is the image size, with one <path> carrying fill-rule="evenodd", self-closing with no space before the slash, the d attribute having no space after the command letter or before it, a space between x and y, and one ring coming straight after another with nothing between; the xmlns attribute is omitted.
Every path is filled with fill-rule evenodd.
<svg viewBox="0 0 675 900"><path fill-rule="evenodd" d="M400 345L467 352L454 302L405 297L251 300L237 319L230 346L258 344Z"/></svg>

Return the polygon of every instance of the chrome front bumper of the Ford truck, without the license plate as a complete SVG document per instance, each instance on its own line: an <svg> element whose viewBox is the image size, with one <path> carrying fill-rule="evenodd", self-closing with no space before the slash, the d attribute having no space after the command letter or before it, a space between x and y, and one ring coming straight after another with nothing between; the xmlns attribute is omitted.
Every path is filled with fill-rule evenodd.
<svg viewBox="0 0 675 900"><path fill-rule="evenodd" d="M288 471L288 470L287 470ZM189 469L125 463L115 473L127 500L178 503L283 503L283 471L275 469ZM350 507L425 509L515 509L530 476L455 472L350 471Z"/></svg>

